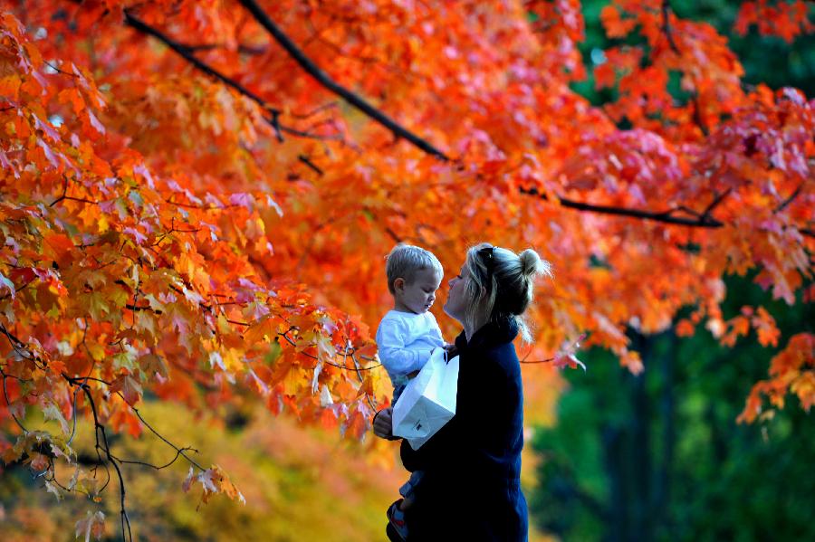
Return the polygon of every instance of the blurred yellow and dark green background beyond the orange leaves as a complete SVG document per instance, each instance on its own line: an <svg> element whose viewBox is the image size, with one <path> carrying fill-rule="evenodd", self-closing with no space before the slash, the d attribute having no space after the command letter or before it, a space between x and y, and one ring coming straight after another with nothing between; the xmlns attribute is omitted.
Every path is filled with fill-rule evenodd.
<svg viewBox="0 0 815 542"><path fill-rule="evenodd" d="M602 50L616 44L599 24L606 4L583 2L587 39L581 52L587 65L604 62ZM793 86L811 99L815 36L790 44L759 36L754 29L736 35L737 4L672 2L680 17L705 20L729 36L746 82ZM574 88L594 104L615 98L614 90L594 90L591 79ZM676 92L681 92L678 81ZM725 319L744 305L772 308L781 345L792 330L815 330L811 303L781 306L750 276L727 277L726 284ZM815 509L812 417L790 397L772 418L749 425L736 422L776 350L759 346L754 336L725 349L704 330L689 338L677 337L674 328L657 336L629 337L645 366L639 376L620 368L608 352L591 350L580 353L588 372L562 374L556 403L536 399L528 390L528 408L538 409L528 416L534 426L524 456L532 540L815 540L810 518ZM223 498L202 504L197 490L184 493L180 486L187 472L180 461L150 476L143 475L145 467L133 465L125 475L131 480L127 498L136 537L384 538L384 510L405 478L395 446L370 452L369 442L303 429L285 416L273 417L248 396L244 404L225 408L214 405L207 414L193 414L148 400L143 414L174 442L199 449L196 457L202 464L216 463L229 471L246 505ZM82 426L77 439L77 448L90 454L91 428ZM137 461L164 464L174 456L149 434L139 441L122 438L115 445L122 458ZM93 457L84 460L83 468L91 469ZM71 477L71 471L60 473L63 480ZM118 488L103 495L110 518L105 538L117 539L112 519L118 515ZM32 479L23 467L0 476L4 541L72 540L65 526L72 526L85 508L82 499L58 503L43 490L42 480Z"/></svg>

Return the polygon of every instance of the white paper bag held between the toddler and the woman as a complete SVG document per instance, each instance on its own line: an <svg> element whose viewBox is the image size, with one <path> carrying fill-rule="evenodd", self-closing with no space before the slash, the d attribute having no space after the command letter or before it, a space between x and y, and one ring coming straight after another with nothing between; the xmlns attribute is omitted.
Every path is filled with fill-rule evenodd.
<svg viewBox="0 0 815 542"><path fill-rule="evenodd" d="M445 357L444 348L436 348L393 406L393 434L407 439L414 450L455 414L458 357L446 363Z"/></svg>

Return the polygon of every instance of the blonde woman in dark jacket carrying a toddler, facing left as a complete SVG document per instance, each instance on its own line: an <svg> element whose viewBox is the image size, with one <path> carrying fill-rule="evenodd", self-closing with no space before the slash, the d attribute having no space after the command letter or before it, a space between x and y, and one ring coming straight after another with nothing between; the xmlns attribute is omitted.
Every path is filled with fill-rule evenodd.
<svg viewBox="0 0 815 542"><path fill-rule="evenodd" d="M444 310L464 327L455 339L460 361L455 416L418 450L401 444L408 471L424 471L405 510L408 540L527 539L520 486L523 447L521 367L513 339L529 332L521 316L548 262L532 250L515 254L482 244L467 252L449 282ZM391 436L391 409L379 411L374 433ZM388 537L398 539L391 523Z"/></svg>

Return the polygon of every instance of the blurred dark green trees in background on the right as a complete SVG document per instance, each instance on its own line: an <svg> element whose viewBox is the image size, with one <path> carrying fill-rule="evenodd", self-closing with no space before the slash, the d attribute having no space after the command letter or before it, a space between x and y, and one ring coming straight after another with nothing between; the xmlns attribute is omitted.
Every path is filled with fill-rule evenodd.
<svg viewBox="0 0 815 542"><path fill-rule="evenodd" d="M603 62L610 42L599 23L608 2L583 2L587 66ZM680 17L704 20L728 36L743 62L746 84L792 86L815 95L815 35L794 43L762 37L755 28L733 33L737 2L676 1ZM810 15L815 11L810 9ZM592 103L616 98L574 89ZM682 100L678 85L676 98ZM815 331L815 307L772 300L750 277L727 277L724 318L763 305L781 329L779 348L755 334L721 347L705 329L677 338L673 329L631 338L645 372L632 376L608 352L581 358L589 371L567 371L556 425L539 428L532 446L541 458L539 486L530 495L534 523L564 540L812 540L815 421L790 397L787 408L764 423L736 423L744 399L766 378L769 361L791 334Z"/></svg>

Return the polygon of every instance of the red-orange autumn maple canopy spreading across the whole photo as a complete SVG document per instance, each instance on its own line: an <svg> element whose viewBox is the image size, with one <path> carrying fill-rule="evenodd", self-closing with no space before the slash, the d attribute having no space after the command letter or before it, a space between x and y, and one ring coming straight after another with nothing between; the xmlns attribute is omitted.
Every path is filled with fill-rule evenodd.
<svg viewBox="0 0 815 542"><path fill-rule="evenodd" d="M251 389L366 433L388 401L370 328L395 242L448 275L473 242L541 252L555 280L532 310L532 361L586 333L640 371L627 329L669 328L686 307L679 334L732 345L754 329L775 346L768 310L725 318L727 273L815 297L815 102L745 84L724 36L667 1L609 3L615 45L594 66L574 0L2 8L0 451L56 494L93 495L88 472L53 476L91 423L125 531L107 439L150 430L145 394L200 407ZM736 28L794 40L810 12L744 2ZM613 102L572 90L589 70ZM741 419L790 392L815 403L815 336L781 346ZM53 431L29 430L27 411ZM168 446L186 487L241 497Z"/></svg>

